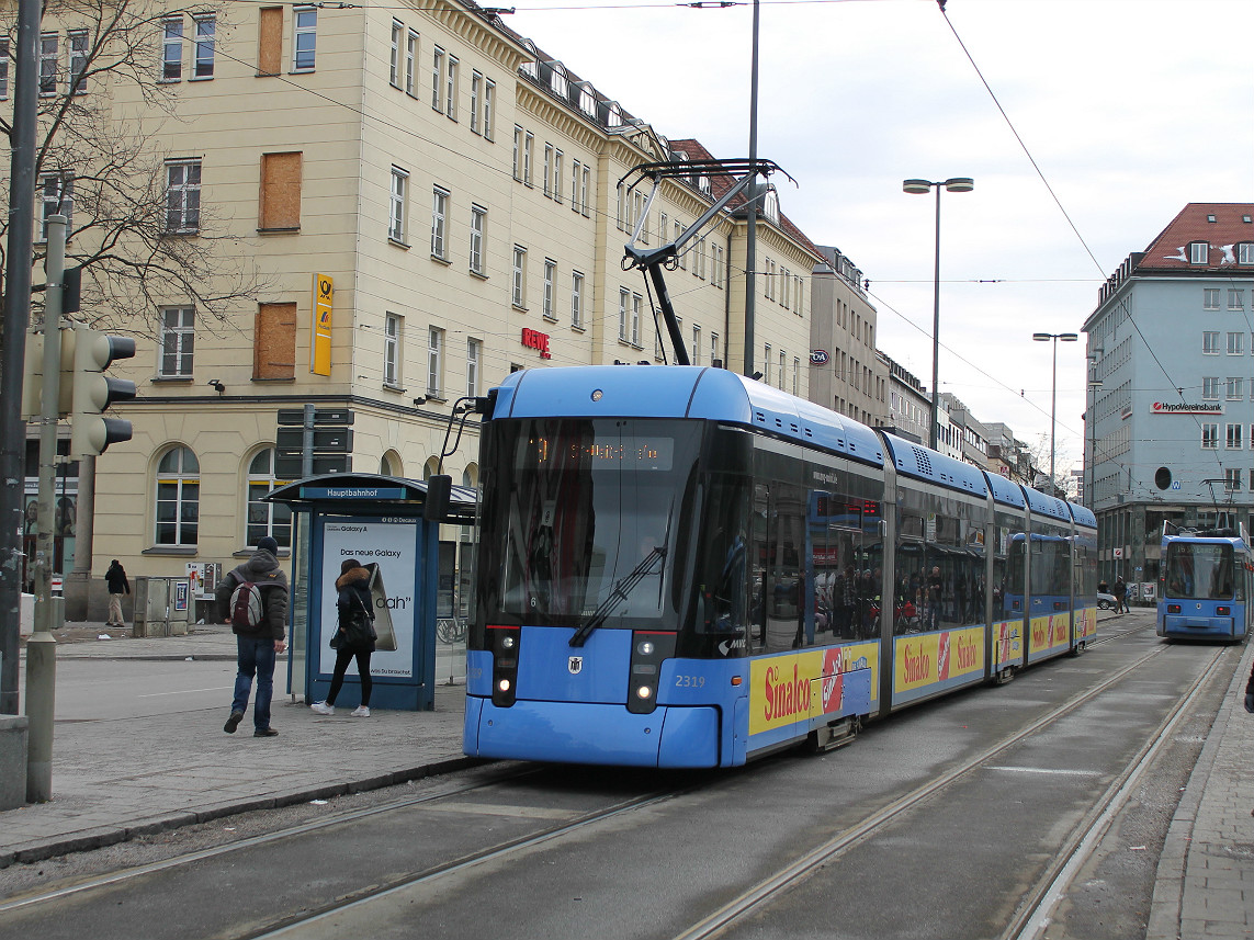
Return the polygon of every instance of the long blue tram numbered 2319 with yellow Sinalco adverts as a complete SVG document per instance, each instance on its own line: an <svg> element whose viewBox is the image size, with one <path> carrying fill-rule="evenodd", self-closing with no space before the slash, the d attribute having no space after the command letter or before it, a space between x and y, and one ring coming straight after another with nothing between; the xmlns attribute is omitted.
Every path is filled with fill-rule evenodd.
<svg viewBox="0 0 1254 940"><path fill-rule="evenodd" d="M1082 650L1096 520L721 368L490 396L464 749L726 767Z"/></svg>

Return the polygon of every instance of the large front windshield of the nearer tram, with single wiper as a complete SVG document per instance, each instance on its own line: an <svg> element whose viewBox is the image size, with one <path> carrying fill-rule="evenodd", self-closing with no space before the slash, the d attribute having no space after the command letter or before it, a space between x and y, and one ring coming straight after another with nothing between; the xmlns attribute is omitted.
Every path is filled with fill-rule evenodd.
<svg viewBox="0 0 1254 940"><path fill-rule="evenodd" d="M488 609L530 624L673 624L697 427L534 419L499 422L494 432L495 499L484 508L484 531L497 544L484 545L484 561L499 574L487 585Z"/></svg>

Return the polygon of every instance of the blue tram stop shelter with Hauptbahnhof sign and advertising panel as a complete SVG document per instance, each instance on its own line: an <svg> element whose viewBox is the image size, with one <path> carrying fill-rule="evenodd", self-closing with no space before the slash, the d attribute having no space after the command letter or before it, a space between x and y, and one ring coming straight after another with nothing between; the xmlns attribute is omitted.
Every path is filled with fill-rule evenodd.
<svg viewBox="0 0 1254 940"><path fill-rule="evenodd" d="M474 523L475 491L453 486L446 511L428 519L429 486L380 474L324 474L285 484L265 500L292 508L292 570L287 692L324 701L331 687L337 628L335 587L341 563L355 558L371 572L375 630L370 658L371 707L435 707L435 614L441 523ZM433 508L439 500L433 498ZM440 508L443 510L443 506ZM349 667L336 704L360 703Z"/></svg>

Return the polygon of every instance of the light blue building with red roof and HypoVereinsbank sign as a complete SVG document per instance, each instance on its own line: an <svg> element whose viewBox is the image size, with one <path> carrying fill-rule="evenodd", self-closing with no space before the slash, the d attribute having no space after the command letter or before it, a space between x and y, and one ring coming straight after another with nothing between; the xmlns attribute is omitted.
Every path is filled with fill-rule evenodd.
<svg viewBox="0 0 1254 940"><path fill-rule="evenodd" d="M1162 523L1249 525L1254 204L1190 203L1085 321L1101 575L1159 574Z"/></svg>

